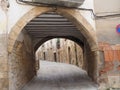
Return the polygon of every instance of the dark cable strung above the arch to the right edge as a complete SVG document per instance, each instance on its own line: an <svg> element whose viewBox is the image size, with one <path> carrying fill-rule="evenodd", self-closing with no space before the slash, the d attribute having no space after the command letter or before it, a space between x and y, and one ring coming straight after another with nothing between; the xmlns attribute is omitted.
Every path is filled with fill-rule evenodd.
<svg viewBox="0 0 120 90"><path fill-rule="evenodd" d="M120 17L120 14L109 14L109 15L95 15L93 9L87 9L87 8L79 8L79 7L67 7L63 5L56 5L56 4L45 4L45 3L40 3L40 2L31 2L31 1L23 1L23 0L16 0L18 4L22 5L33 5L33 6L41 6L41 7L62 7L62 8L67 8L67 9L77 9L77 10L82 10L82 11L89 11L92 13L94 19L106 19L106 18L114 18L114 17Z"/></svg>

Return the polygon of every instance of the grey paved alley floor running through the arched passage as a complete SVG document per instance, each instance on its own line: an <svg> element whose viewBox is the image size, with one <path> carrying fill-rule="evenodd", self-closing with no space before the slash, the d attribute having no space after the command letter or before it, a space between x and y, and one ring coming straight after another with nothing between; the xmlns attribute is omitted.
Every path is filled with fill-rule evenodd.
<svg viewBox="0 0 120 90"><path fill-rule="evenodd" d="M97 84L77 66L40 61L37 77L22 90L97 90Z"/></svg>

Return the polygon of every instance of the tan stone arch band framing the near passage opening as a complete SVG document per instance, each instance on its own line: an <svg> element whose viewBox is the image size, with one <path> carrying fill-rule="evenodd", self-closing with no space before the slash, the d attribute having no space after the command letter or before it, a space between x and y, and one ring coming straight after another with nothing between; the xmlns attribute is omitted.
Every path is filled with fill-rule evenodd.
<svg viewBox="0 0 120 90"><path fill-rule="evenodd" d="M90 64L89 67L92 67L88 72L89 75L97 80L97 61L99 59L98 46L96 41L95 31L92 26L86 21L86 19L79 13L79 11L74 9L64 9L64 8L48 8L48 7L35 7L27 12L18 22L13 26L9 34L8 40L8 52L11 53L15 44L15 41L24 28L24 26L33 18L37 17L40 14L45 12L55 11L58 14L69 19L81 34L86 38L88 46L90 47L91 55L88 57L93 58L93 64Z"/></svg>

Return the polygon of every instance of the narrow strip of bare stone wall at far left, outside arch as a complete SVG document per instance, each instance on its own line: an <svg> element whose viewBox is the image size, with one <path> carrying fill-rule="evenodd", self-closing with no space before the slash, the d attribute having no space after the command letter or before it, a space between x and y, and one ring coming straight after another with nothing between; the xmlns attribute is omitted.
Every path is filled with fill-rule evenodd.
<svg viewBox="0 0 120 90"><path fill-rule="evenodd" d="M6 35L0 34L0 90L8 90L8 59Z"/></svg>

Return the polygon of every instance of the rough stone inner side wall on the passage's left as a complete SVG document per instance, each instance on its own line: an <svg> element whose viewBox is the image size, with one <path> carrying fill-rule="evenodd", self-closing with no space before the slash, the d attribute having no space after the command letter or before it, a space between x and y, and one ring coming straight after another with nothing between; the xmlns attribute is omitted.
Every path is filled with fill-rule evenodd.
<svg viewBox="0 0 120 90"><path fill-rule="evenodd" d="M9 90L20 90L35 75L32 41L23 30L9 53Z"/></svg>

